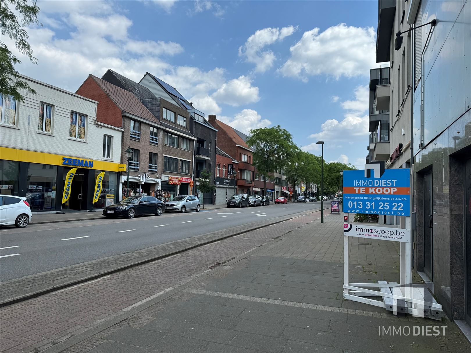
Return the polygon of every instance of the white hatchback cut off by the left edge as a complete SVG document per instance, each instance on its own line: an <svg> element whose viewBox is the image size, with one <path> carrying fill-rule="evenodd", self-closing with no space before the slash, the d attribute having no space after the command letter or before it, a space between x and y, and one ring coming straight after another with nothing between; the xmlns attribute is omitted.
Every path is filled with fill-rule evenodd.
<svg viewBox="0 0 471 353"><path fill-rule="evenodd" d="M30 205L25 197L0 195L0 225L24 228L31 219Z"/></svg>

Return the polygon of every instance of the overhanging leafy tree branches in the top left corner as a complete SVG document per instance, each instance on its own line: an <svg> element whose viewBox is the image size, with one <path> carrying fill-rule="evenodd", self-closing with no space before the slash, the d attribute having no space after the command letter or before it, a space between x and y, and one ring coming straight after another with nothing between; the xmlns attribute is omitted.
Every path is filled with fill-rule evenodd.
<svg viewBox="0 0 471 353"><path fill-rule="evenodd" d="M24 27L30 24L41 25L38 21L38 13L36 0L0 0L0 33L13 40L16 49L33 64L36 64L38 60L32 55L32 48L28 43L29 36ZM21 61L0 40L0 93L13 96L16 100L23 102L24 98L19 92L20 89L25 89L32 94L36 94L36 91L21 80L15 69L16 64L21 64Z"/></svg>

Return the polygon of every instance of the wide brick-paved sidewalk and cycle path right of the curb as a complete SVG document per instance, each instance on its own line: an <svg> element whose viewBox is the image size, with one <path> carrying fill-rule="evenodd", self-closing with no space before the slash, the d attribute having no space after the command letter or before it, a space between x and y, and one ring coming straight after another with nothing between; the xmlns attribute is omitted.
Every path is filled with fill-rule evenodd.
<svg viewBox="0 0 471 353"><path fill-rule="evenodd" d="M470 351L452 322L398 317L341 299L342 218L329 215L321 225L318 217L294 218L10 305L0 310L0 351ZM379 244L352 242L353 276L397 279L397 251ZM437 324L447 325L445 336L378 334L379 326Z"/></svg>

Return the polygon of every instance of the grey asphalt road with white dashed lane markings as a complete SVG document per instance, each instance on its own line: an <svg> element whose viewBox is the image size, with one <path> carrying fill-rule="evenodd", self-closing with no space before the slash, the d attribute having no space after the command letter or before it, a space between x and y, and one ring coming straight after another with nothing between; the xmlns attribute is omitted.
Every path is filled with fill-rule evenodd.
<svg viewBox="0 0 471 353"><path fill-rule="evenodd" d="M320 202L165 213L134 219L28 225L0 229L0 281L145 249L242 224L320 209Z"/></svg>

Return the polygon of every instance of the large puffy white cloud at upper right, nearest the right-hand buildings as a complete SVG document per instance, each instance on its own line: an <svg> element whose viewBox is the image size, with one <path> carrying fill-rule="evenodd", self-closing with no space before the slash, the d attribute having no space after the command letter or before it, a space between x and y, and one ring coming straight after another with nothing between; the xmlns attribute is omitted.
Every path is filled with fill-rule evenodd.
<svg viewBox="0 0 471 353"><path fill-rule="evenodd" d="M283 76L307 80L327 75L339 79L367 75L375 63L376 34L373 27L338 24L320 32L314 28L290 48L291 57L280 67Z"/></svg>

